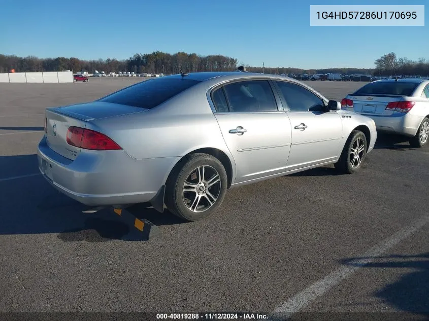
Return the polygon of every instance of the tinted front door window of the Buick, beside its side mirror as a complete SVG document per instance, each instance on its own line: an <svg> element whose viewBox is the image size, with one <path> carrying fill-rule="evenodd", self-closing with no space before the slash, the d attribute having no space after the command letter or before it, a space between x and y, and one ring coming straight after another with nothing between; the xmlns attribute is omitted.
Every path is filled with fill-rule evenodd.
<svg viewBox="0 0 429 321"><path fill-rule="evenodd" d="M323 100L310 90L290 82L276 81L291 112L321 112L325 110Z"/></svg>

